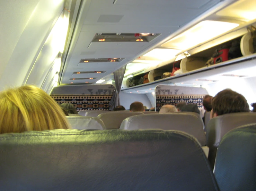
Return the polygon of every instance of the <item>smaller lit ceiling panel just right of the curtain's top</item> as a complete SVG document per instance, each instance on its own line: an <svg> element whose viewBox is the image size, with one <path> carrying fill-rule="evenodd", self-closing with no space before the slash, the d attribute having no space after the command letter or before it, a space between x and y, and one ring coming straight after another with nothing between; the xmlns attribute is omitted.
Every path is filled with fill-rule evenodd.
<svg viewBox="0 0 256 191"><path fill-rule="evenodd" d="M144 54L144 56L156 58L161 61L166 61L166 60L170 60L171 58L174 58L175 55L179 52L180 50L177 50L177 49L155 48L150 52Z"/></svg>

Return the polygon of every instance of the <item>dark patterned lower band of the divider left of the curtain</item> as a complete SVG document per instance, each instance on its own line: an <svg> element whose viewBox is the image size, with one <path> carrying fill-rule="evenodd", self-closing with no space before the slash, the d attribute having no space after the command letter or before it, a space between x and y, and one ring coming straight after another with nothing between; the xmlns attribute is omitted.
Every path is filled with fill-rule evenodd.
<svg viewBox="0 0 256 191"><path fill-rule="evenodd" d="M113 95L51 95L59 104L72 103L77 111L109 110L109 102Z"/></svg>

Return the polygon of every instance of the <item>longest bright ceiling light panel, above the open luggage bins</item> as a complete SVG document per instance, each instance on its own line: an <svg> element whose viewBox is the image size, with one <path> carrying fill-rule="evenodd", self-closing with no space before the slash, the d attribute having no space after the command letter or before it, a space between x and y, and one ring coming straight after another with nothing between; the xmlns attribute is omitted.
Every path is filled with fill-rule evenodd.
<svg viewBox="0 0 256 191"><path fill-rule="evenodd" d="M162 47L186 50L238 26L239 24L230 22L202 21L177 37L169 40L163 44Z"/></svg>

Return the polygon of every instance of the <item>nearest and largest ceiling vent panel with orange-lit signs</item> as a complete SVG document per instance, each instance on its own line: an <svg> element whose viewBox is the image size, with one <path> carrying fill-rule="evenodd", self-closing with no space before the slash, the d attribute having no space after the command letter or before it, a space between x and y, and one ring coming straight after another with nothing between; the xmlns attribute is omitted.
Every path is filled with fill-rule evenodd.
<svg viewBox="0 0 256 191"><path fill-rule="evenodd" d="M96 33L91 42L150 42L157 33Z"/></svg>

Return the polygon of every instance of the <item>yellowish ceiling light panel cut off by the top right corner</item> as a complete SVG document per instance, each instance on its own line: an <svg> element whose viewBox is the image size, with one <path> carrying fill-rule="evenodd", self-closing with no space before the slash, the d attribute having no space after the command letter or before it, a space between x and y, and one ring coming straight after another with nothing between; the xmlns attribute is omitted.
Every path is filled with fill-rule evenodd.
<svg viewBox="0 0 256 191"><path fill-rule="evenodd" d="M255 0L240 0L216 13L218 16L235 17L245 20L256 19Z"/></svg>

